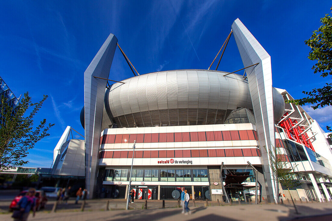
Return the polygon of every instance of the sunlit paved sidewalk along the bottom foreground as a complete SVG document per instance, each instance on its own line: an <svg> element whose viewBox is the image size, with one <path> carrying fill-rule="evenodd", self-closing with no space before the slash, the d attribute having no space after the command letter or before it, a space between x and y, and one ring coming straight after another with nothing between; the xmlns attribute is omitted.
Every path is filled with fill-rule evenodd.
<svg viewBox="0 0 332 221"><path fill-rule="evenodd" d="M300 215L294 214L291 205L236 205L236 206L208 206L193 207L191 215L181 214L181 208L166 209L134 209L110 211L84 211L84 212L38 212L36 217L29 217L31 221L41 220L79 220L79 221L140 221L140 220L192 220L192 221L252 221L252 220L291 220L294 217L329 214L320 217L300 218L297 220L332 220L332 203L303 203L297 204ZM11 214L0 215L0 220L12 220Z"/></svg>

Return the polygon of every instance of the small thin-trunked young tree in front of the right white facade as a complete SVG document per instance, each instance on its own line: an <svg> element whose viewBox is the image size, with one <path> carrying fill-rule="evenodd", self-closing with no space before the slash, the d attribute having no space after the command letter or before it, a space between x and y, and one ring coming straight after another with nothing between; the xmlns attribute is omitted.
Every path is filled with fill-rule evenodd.
<svg viewBox="0 0 332 221"><path fill-rule="evenodd" d="M299 186L301 184L297 180L292 167L290 167L290 163L287 162L286 157L281 152L279 145L277 146L277 148L272 145L274 151L271 150L268 151L266 146L264 146L264 148L270 158L271 169L273 171L274 179L277 181L277 183L280 183L282 186L286 187L288 193L290 194L291 188ZM279 191L277 195L279 195ZM291 194L290 194L290 199L293 202L296 214L298 214L297 208L295 206Z"/></svg>

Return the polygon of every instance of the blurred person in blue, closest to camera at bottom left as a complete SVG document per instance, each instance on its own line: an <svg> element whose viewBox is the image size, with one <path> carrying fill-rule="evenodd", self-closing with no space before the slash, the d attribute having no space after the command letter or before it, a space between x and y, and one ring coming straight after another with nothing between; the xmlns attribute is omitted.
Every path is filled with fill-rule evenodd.
<svg viewBox="0 0 332 221"><path fill-rule="evenodd" d="M30 210L33 210L33 217L36 214L36 189L30 188L25 196L17 203L18 209L13 212L14 221L28 220Z"/></svg>

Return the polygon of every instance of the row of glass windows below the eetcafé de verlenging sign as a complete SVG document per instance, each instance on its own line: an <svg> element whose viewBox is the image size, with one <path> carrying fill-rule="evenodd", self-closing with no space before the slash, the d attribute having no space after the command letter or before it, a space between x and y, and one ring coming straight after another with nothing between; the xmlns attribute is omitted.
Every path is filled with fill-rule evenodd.
<svg viewBox="0 0 332 221"><path fill-rule="evenodd" d="M105 181L128 181L128 171L128 169L106 170ZM134 169L131 172L131 181L191 182L192 178L194 182L207 182L207 169Z"/></svg>

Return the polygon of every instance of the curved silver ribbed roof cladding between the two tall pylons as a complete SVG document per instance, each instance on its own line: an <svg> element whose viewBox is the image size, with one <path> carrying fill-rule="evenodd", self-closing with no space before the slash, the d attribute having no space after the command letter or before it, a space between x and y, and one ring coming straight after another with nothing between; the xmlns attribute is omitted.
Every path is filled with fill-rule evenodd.
<svg viewBox="0 0 332 221"><path fill-rule="evenodd" d="M241 75L210 70L144 74L113 84L105 108L118 127L223 123L231 111L253 110Z"/></svg>

